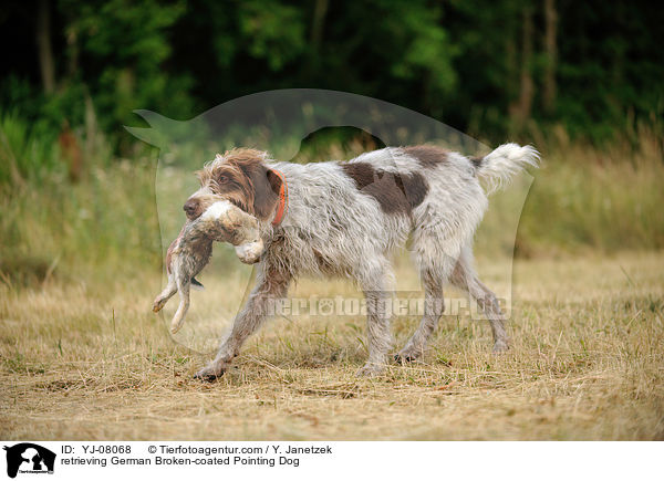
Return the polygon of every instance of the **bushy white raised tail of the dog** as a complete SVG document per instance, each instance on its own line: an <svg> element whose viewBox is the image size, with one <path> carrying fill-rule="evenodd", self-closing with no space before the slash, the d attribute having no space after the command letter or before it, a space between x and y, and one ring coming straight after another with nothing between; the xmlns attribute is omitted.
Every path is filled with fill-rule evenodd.
<svg viewBox="0 0 664 481"><path fill-rule="evenodd" d="M473 159L473 163L477 176L487 184L487 192L491 194L509 186L526 166L539 167L539 160L540 155L535 147L504 144L487 156Z"/></svg>

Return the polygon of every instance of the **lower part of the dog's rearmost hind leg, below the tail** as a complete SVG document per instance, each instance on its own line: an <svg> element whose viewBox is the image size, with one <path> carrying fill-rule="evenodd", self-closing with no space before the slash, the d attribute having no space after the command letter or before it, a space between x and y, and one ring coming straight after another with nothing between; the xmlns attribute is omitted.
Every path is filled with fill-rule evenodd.
<svg viewBox="0 0 664 481"><path fill-rule="evenodd" d="M452 283L468 292L484 311L494 334L494 352L501 353L509 348L509 337L505 331L505 316L496 299L496 294L478 278L473 265L473 250L466 245L454 268Z"/></svg>

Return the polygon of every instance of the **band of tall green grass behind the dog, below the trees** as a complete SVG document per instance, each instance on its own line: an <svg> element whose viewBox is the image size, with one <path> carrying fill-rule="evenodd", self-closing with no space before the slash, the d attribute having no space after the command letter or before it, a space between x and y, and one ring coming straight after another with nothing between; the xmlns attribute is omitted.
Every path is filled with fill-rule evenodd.
<svg viewBox="0 0 664 481"><path fill-rule="evenodd" d="M118 159L108 148L96 148L85 153L85 175L72 184L56 139L46 144L15 118L0 122L0 280L117 279L137 269L158 270L156 151L137 147L134 158ZM662 249L661 146L647 133L635 150L621 145L603 150L569 143L538 145L543 164L533 172L517 254ZM331 144L319 154L347 158L365 147ZM508 190L495 198L491 209L507 209L510 195ZM480 232L480 249L489 252L498 244L500 253L511 253L500 215L488 216Z"/></svg>

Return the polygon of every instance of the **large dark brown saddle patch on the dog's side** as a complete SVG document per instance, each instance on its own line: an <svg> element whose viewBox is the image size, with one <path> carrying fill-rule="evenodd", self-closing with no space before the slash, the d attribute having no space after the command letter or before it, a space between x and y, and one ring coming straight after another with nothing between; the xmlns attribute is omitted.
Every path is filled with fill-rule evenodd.
<svg viewBox="0 0 664 481"><path fill-rule="evenodd" d="M357 190L378 201L385 213L409 213L428 191L425 178L418 172L392 174L366 163L341 164L341 168L355 181Z"/></svg>

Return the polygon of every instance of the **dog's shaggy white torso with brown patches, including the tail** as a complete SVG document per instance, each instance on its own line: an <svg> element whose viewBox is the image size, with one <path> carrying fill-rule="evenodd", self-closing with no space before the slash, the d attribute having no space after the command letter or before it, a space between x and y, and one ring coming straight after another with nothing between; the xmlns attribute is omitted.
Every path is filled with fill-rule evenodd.
<svg viewBox="0 0 664 481"><path fill-rule="evenodd" d="M495 153L507 159L502 167ZM343 275L403 245L411 233L457 255L488 205L483 172L507 179L536 158L513 144L495 153L470 159L434 146L387 147L349 161L271 164L284 172L290 195L283 234L268 252L293 274Z"/></svg>

